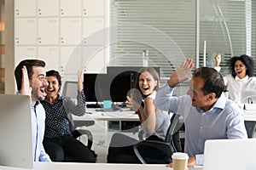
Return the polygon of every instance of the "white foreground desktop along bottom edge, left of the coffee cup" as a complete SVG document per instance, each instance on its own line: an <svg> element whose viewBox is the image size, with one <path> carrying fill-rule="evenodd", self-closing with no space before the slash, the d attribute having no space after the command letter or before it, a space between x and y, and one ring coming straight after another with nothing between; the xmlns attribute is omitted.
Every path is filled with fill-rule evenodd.
<svg viewBox="0 0 256 170"><path fill-rule="evenodd" d="M18 167L2 167L1 170L28 170ZM33 170L172 170L165 164L110 164L110 163L67 163L35 162Z"/></svg>

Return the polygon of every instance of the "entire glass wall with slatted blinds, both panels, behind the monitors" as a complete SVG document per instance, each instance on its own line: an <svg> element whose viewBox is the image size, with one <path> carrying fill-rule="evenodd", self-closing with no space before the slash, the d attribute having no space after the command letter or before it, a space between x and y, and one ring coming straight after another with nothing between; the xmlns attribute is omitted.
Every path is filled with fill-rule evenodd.
<svg viewBox="0 0 256 170"><path fill-rule="evenodd" d="M248 1L248 0L245 0ZM200 66L203 42L207 42L207 65L222 54L222 73L229 72L228 60L247 53L245 1L234 0L111 0L110 61L108 65L143 66L143 51L148 51L148 66L160 66L161 81L185 58L196 56L196 29L200 29ZM199 2L199 9L196 8ZM252 50L255 59L255 3L252 1ZM196 14L200 27L196 28Z"/></svg>

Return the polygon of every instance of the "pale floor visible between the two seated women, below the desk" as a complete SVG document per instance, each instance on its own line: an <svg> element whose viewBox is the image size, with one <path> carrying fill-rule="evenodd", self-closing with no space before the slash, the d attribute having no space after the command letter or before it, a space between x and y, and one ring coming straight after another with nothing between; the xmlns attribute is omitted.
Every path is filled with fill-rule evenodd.
<svg viewBox="0 0 256 170"><path fill-rule="evenodd" d="M96 162L106 163L108 155L108 145L113 133L124 133L134 139L138 139L138 133L132 132L120 132L119 129L113 129L108 127L108 122L98 121L94 126L86 127L93 134L92 150L96 151L98 155ZM82 136L80 139L86 144L86 137Z"/></svg>

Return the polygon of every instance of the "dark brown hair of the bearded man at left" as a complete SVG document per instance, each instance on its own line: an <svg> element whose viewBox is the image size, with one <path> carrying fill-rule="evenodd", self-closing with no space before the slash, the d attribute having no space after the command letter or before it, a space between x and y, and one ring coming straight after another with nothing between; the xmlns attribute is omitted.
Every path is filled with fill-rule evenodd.
<svg viewBox="0 0 256 170"><path fill-rule="evenodd" d="M19 65L15 68L15 79L17 84L17 89L21 89L21 83L22 83L22 68L23 66L26 66L27 70L27 76L29 80L32 79L32 76L34 74L33 67L45 67L45 62L43 60L39 59L24 59L20 61Z"/></svg>

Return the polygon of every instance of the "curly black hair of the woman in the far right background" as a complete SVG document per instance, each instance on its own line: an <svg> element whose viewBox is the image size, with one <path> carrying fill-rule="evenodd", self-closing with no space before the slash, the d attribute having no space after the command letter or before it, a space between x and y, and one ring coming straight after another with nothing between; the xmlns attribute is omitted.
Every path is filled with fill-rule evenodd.
<svg viewBox="0 0 256 170"><path fill-rule="evenodd" d="M230 59L230 70L231 70L231 75L232 77L236 77L236 71L235 71L235 63L237 60L241 60L241 62L246 65L247 67L247 76L248 77L253 77L253 70L254 70L254 63L253 63L253 58L243 54L240 57L232 57Z"/></svg>

